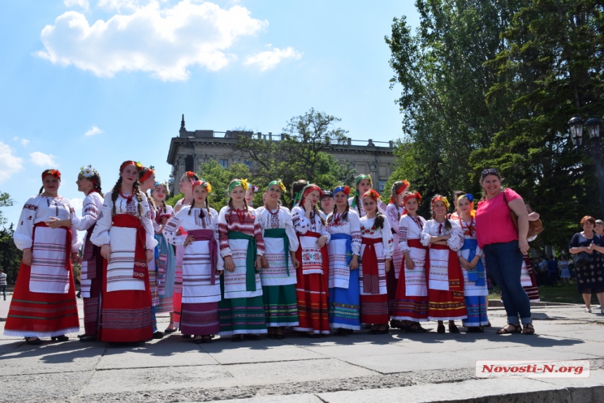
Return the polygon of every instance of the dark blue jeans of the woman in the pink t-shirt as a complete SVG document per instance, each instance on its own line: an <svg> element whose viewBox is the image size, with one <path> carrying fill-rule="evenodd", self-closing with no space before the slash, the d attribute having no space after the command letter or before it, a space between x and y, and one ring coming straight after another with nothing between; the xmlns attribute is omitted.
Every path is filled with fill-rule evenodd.
<svg viewBox="0 0 604 403"><path fill-rule="evenodd" d="M518 249L518 241L491 243L482 248L489 273L501 289L501 298L508 314L508 324L518 325L518 316L522 324L532 323L530 301L522 284L520 271L523 267L523 254Z"/></svg>

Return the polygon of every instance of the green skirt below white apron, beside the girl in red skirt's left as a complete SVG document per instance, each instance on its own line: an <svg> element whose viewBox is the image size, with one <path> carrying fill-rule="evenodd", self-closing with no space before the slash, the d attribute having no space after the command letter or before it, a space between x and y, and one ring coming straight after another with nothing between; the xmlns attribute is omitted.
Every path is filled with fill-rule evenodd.
<svg viewBox="0 0 604 403"><path fill-rule="evenodd" d="M296 284L263 286L262 298L264 300L266 326L298 326Z"/></svg>

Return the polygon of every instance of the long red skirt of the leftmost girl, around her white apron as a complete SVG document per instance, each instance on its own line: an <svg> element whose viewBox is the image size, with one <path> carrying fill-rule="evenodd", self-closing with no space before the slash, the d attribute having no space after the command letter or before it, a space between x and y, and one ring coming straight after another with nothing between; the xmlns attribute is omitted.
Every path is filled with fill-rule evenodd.
<svg viewBox="0 0 604 403"><path fill-rule="evenodd" d="M69 271L70 289L66 294L32 293L29 291L31 271L32 267L21 263L4 335L43 338L77 333L79 319L73 270Z"/></svg>

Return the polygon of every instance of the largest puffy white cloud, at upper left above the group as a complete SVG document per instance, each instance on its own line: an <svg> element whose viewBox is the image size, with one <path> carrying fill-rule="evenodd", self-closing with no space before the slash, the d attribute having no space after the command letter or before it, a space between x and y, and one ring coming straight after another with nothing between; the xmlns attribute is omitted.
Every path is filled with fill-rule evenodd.
<svg viewBox="0 0 604 403"><path fill-rule="evenodd" d="M55 25L44 27L40 36L45 49L37 55L99 77L145 71L164 81L185 80L191 65L210 71L224 68L237 58L225 53L237 39L268 26L242 6L227 10L195 1L183 0L172 8L150 1L131 15L114 15L93 25L83 14L67 11ZM119 4L123 7L124 1Z"/></svg>

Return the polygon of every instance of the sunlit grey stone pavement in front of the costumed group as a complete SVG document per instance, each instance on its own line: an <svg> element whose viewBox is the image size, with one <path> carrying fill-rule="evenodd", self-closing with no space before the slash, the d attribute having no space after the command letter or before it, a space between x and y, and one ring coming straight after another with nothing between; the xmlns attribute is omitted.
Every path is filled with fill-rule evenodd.
<svg viewBox="0 0 604 403"><path fill-rule="evenodd" d="M0 318L9 300L0 300ZM31 346L0 335L0 402L604 402L603 315L534 308L538 335L527 336L496 335L505 312L489 314L493 328L467 334L438 334L430 323L424 334L194 345L175 333L129 347L77 338ZM169 319L158 321L163 329ZM588 359L591 376L480 379L479 359Z"/></svg>

